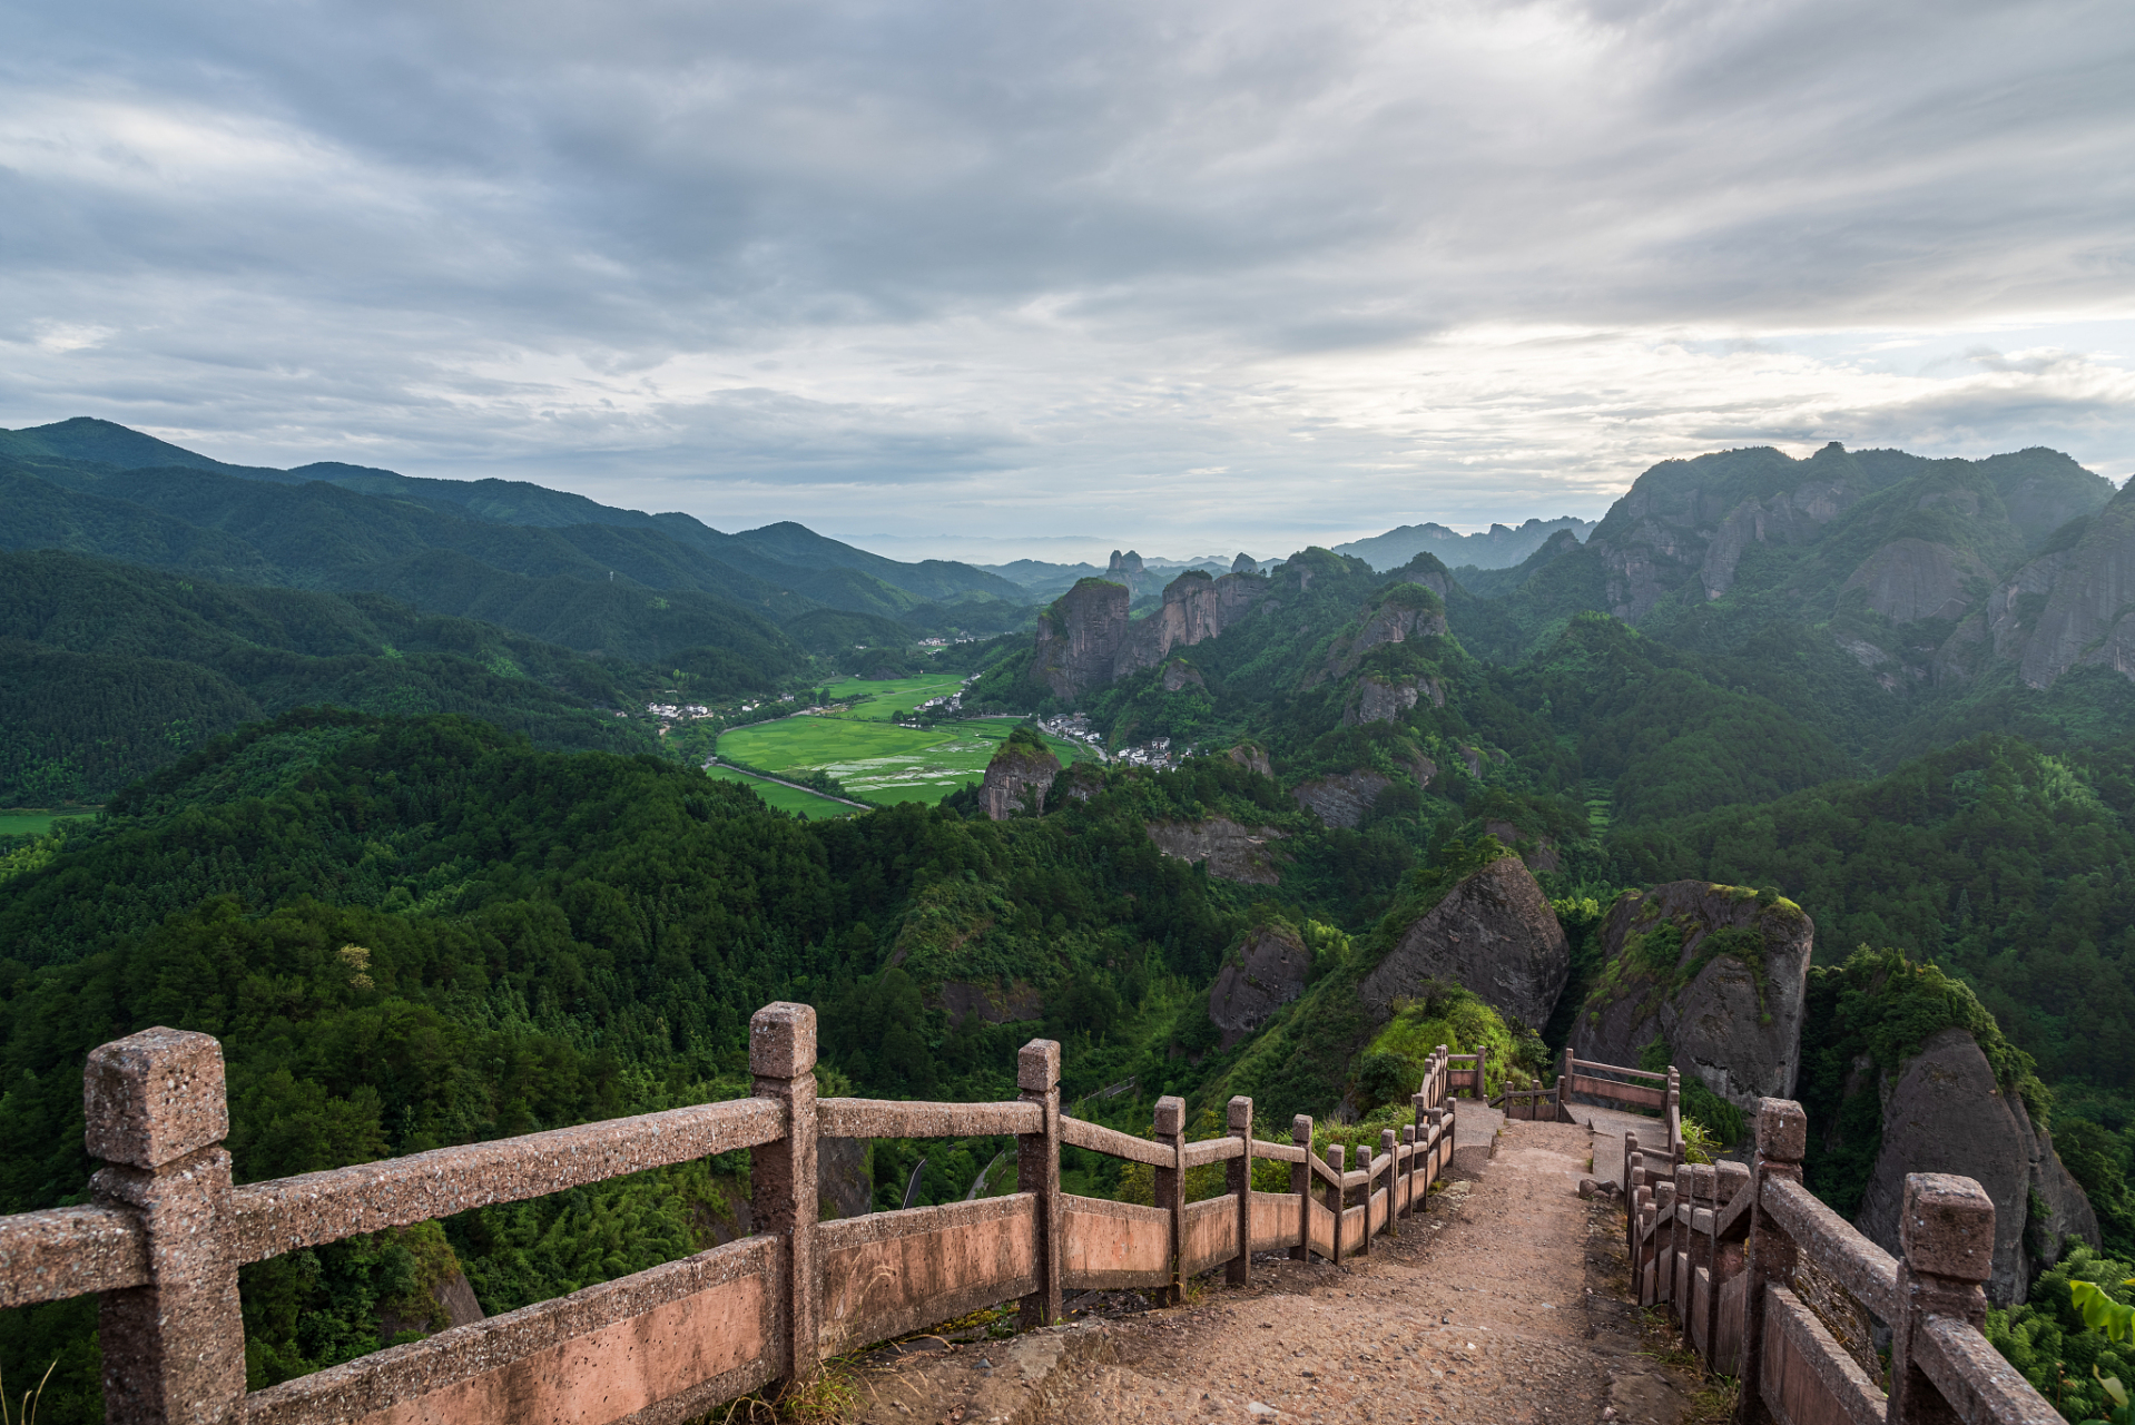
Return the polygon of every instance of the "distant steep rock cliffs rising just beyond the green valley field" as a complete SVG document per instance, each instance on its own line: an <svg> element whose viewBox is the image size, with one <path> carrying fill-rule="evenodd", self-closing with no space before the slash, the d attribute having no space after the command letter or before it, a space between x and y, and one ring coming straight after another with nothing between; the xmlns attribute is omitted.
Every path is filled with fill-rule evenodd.
<svg viewBox="0 0 2135 1425"><path fill-rule="evenodd" d="M1038 615L1031 679L1057 699L1080 699L1114 677L1161 664L1174 647L1217 637L1245 617L1268 588L1260 575L1211 579L1187 570L1166 585L1159 609L1129 620L1125 585L1082 579Z"/></svg>

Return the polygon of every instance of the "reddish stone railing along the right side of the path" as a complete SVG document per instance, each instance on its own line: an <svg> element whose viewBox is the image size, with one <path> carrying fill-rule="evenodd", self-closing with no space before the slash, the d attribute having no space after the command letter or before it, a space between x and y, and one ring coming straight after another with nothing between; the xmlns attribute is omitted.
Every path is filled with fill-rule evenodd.
<svg viewBox="0 0 2135 1425"><path fill-rule="evenodd" d="M2052 1425L2060 1414L1979 1333L1994 1201L1971 1177L1904 1179L1904 1260L1802 1186L1808 1119L1757 1105L1740 1162L1638 1164L1627 1179L1631 1280L1687 1344L1740 1380L1738 1421ZM1885 1378L1872 1322L1889 1331Z"/></svg>

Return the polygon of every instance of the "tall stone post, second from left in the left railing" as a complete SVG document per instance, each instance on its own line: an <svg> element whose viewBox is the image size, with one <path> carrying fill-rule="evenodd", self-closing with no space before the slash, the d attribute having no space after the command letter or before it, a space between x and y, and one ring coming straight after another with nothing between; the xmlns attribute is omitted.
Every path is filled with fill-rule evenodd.
<svg viewBox="0 0 2135 1425"><path fill-rule="evenodd" d="M777 1350L788 1382L818 1361L816 1278L816 1011L773 1002L749 1015L756 1098L786 1105L786 1137L749 1149L749 1222L786 1239L786 1331Z"/></svg>

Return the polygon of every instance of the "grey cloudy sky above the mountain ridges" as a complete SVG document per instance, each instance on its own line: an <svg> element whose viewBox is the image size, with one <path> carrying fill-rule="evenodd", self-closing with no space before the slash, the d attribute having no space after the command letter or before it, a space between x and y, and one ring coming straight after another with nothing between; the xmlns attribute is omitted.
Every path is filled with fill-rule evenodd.
<svg viewBox="0 0 2135 1425"><path fill-rule="evenodd" d="M2126 0L0 6L0 425L914 558L2135 470Z"/></svg>

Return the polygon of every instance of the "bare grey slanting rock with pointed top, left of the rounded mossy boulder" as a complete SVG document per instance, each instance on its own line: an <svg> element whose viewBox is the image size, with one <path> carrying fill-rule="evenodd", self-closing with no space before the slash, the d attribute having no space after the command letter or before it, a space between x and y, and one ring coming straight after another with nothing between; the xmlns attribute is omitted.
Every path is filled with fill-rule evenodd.
<svg viewBox="0 0 2135 1425"><path fill-rule="evenodd" d="M1571 944L1516 857L1492 861L1411 923L1358 996L1386 1008L1426 981L1458 981L1501 1015L1539 1030L1571 976Z"/></svg>

